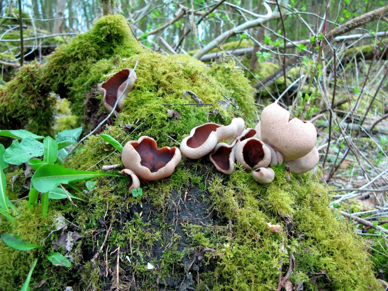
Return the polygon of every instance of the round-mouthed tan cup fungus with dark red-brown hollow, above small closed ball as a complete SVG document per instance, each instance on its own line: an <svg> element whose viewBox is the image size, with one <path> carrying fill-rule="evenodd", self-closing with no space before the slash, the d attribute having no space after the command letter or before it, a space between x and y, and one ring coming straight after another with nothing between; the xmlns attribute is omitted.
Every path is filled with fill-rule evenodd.
<svg viewBox="0 0 388 291"><path fill-rule="evenodd" d="M271 151L261 140L251 137L237 143L236 160L247 170L266 168L271 162Z"/></svg>

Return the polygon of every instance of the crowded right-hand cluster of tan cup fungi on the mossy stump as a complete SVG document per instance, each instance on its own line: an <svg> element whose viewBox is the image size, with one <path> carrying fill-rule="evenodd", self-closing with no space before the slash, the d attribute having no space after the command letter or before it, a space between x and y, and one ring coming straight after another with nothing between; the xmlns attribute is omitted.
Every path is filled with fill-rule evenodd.
<svg viewBox="0 0 388 291"><path fill-rule="evenodd" d="M182 140L180 150L191 159L210 153L210 161L225 174L232 173L237 161L253 170L252 175L260 184L272 182L275 172L270 166L283 162L291 173L302 174L319 161L315 147L317 130L311 122L289 115L288 110L274 102L263 109L255 129L244 129L242 118L234 118L228 126L206 123L191 130Z"/></svg>

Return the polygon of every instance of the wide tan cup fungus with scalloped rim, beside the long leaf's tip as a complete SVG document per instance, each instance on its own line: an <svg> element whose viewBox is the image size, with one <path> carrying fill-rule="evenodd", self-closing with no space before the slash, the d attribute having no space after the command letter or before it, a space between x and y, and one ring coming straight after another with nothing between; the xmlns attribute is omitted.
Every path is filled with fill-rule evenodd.
<svg viewBox="0 0 388 291"><path fill-rule="evenodd" d="M154 139L147 136L127 142L121 152L126 169L132 170L145 182L169 177L180 162L180 151L176 147L157 148Z"/></svg>

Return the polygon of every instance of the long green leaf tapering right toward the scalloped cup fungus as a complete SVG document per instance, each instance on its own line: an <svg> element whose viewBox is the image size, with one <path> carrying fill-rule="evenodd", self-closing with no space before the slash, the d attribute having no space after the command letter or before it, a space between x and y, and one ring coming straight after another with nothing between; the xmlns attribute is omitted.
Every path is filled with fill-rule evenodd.
<svg viewBox="0 0 388 291"><path fill-rule="evenodd" d="M59 186L59 184L85 181L92 178L104 176L125 177L125 175L114 173L68 169L64 166L55 164L41 166L32 176L31 182L36 190L43 193L49 192L51 189L54 189L55 187Z"/></svg>

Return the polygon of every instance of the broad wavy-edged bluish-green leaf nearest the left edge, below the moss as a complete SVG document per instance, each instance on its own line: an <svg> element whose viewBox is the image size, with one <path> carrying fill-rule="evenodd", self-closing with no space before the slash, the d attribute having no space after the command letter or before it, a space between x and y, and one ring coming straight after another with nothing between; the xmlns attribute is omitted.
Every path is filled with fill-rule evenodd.
<svg viewBox="0 0 388 291"><path fill-rule="evenodd" d="M43 144L33 137L24 138L20 144L14 140L9 148L5 150L4 161L13 165L21 165L33 157L43 155Z"/></svg>

